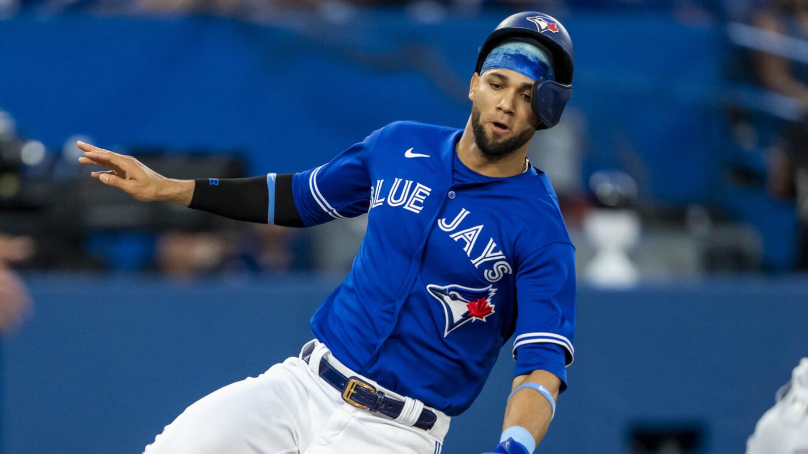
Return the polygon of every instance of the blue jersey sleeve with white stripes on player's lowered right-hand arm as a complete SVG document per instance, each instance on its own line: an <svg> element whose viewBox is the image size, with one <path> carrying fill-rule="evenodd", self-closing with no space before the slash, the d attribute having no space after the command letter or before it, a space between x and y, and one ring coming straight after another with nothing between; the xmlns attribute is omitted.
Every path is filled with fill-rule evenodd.
<svg viewBox="0 0 808 454"><path fill-rule="evenodd" d="M516 370L521 371L516 375L535 370L537 357L528 348L534 345L561 347L563 365L572 364L575 353L575 254L572 244L550 243L520 263L516 274L516 305L518 315L512 351ZM559 378L564 380L566 377Z"/></svg>

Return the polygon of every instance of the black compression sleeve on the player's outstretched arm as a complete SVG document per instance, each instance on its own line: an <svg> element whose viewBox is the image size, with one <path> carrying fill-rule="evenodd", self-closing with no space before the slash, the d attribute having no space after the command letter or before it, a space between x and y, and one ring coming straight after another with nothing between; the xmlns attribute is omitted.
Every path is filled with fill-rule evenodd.
<svg viewBox="0 0 808 454"><path fill-rule="evenodd" d="M189 208L212 212L238 221L267 224L267 177L244 179L195 179ZM274 224L303 227L292 198L292 174L280 174L275 184Z"/></svg>

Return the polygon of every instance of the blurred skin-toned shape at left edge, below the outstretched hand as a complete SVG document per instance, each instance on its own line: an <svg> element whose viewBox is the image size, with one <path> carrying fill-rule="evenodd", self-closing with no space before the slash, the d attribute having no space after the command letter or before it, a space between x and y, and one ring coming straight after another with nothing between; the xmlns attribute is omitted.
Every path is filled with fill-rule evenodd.
<svg viewBox="0 0 808 454"><path fill-rule="evenodd" d="M0 333L11 333L31 311L31 297L8 263L29 259L34 250L29 237L0 233Z"/></svg>

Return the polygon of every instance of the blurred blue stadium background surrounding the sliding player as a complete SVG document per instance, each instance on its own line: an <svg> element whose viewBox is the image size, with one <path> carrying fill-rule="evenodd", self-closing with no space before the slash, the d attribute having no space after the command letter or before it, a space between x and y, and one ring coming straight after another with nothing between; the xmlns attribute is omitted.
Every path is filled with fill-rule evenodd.
<svg viewBox="0 0 808 454"><path fill-rule="evenodd" d="M808 355L805 0L0 0L0 272L34 306L0 340L0 452L141 452L297 354L364 232L132 202L77 139L236 177L393 120L461 127L478 46L528 9L562 20L576 64L530 152L580 281L540 451L743 452ZM444 452L494 445L509 350Z"/></svg>

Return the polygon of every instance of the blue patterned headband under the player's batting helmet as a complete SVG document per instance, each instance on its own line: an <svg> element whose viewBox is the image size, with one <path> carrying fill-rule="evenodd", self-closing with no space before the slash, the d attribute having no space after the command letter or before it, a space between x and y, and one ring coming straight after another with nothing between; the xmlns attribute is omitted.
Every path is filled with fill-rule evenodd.
<svg viewBox="0 0 808 454"><path fill-rule="evenodd" d="M480 74L492 68L511 69L532 78L555 80L553 66L547 53L540 48L521 41L510 41L493 48L482 63Z"/></svg>

